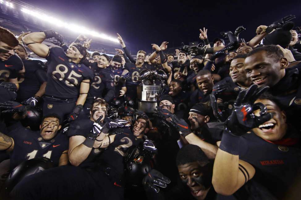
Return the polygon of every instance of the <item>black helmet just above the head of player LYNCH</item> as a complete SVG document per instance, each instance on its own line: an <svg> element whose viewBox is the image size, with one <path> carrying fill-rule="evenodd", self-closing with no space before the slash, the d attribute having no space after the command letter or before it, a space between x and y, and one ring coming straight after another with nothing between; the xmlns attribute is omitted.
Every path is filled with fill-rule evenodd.
<svg viewBox="0 0 301 200"><path fill-rule="evenodd" d="M22 125L30 127L31 130L40 130L43 111L36 106L26 106L27 116L20 120Z"/></svg>

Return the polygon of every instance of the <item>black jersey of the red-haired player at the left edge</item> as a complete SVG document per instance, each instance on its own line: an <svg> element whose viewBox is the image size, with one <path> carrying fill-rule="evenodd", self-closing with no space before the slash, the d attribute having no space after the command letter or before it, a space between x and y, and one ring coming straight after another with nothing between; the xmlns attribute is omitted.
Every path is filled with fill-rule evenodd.
<svg viewBox="0 0 301 200"><path fill-rule="evenodd" d="M23 69L23 62L17 54L12 55L6 61L0 61L0 82L18 78L18 72Z"/></svg>

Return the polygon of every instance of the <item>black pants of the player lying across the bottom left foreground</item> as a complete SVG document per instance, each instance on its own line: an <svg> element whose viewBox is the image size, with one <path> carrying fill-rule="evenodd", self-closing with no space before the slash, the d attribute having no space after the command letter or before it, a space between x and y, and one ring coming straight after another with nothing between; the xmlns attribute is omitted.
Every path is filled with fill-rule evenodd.
<svg viewBox="0 0 301 200"><path fill-rule="evenodd" d="M123 186L115 176L100 168L89 171L76 166L60 166L32 174L11 191L15 200L123 199Z"/></svg>

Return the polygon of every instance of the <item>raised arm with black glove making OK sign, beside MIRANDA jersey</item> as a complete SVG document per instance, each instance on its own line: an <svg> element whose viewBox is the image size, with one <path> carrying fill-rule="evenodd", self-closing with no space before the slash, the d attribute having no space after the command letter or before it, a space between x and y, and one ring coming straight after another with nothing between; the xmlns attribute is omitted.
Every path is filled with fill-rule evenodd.
<svg viewBox="0 0 301 200"><path fill-rule="evenodd" d="M240 136L268 121L272 114L262 103L254 103L269 87L252 85L238 95L232 114L224 123L224 132L213 167L212 184L218 194L231 195L250 180L255 168L239 160ZM260 116L253 111L260 109Z"/></svg>

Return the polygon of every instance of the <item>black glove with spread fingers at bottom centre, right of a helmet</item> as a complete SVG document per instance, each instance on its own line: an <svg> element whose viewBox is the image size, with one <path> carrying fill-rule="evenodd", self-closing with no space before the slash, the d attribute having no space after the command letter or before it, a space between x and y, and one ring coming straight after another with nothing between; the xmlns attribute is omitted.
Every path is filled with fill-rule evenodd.
<svg viewBox="0 0 301 200"><path fill-rule="evenodd" d="M152 169L143 178L142 183L146 191L158 193L160 191L159 187L166 188L167 184L170 183L170 179L161 174L161 172Z"/></svg>

